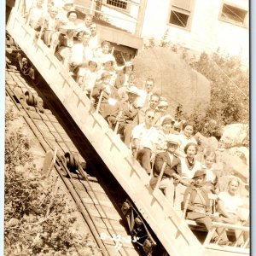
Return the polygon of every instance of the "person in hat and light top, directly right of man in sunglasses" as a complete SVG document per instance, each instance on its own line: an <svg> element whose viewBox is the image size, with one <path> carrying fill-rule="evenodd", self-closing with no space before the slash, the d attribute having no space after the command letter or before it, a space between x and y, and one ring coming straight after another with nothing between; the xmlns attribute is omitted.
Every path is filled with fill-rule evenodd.
<svg viewBox="0 0 256 256"><path fill-rule="evenodd" d="M166 118L163 119L160 129L158 129L157 152L165 151L166 142L171 138L177 137L177 131L172 130L174 122L171 116L166 116Z"/></svg>

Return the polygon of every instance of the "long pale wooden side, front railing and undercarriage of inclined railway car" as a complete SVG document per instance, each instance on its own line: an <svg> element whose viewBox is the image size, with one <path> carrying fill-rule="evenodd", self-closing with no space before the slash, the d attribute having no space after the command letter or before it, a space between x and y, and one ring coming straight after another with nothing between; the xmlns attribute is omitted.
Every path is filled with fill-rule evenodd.
<svg viewBox="0 0 256 256"><path fill-rule="evenodd" d="M32 68L33 72L37 70L40 73L63 104L63 108L67 109L73 121L101 156L113 177L125 190L129 199L124 202L121 211L127 220L134 242L143 247L147 255L154 254L157 247L162 248L160 250L162 255L171 256L187 256L191 253L198 256L248 255L250 253L248 246L231 247L213 244L212 232L205 233L207 237L201 241L200 237L195 236L190 229L194 226L195 229L200 230L201 227L195 223L188 223L183 218L183 214L176 212L157 186L154 190L149 187L148 174L134 159L131 151L109 128L101 114L91 110L90 99L82 94L79 85L44 42L35 37L35 31L26 24L26 20L20 14L20 4L22 2L15 2L6 29L15 44L19 45L21 68L22 65L26 65L27 70ZM37 79L33 72L31 72L32 79ZM218 223L213 224L213 229L218 226L231 233L236 229L249 231L248 227Z"/></svg>

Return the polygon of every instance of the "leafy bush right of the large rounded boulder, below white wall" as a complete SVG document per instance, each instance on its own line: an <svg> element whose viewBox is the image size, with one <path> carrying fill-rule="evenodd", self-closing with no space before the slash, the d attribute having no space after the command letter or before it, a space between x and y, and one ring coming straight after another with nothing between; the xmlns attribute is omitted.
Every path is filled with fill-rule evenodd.
<svg viewBox="0 0 256 256"><path fill-rule="evenodd" d="M238 57L202 53L200 60L190 65L211 81L211 102L207 114L201 116L195 110L189 116L195 121L197 131L207 136L223 125L249 122L249 75L241 68Z"/></svg>

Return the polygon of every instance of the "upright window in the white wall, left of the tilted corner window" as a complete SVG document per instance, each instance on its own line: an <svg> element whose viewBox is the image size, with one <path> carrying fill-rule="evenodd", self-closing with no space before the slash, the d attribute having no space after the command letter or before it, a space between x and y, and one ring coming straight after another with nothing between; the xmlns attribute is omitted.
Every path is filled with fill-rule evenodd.
<svg viewBox="0 0 256 256"><path fill-rule="evenodd" d="M192 0L172 0L169 23L190 29Z"/></svg>

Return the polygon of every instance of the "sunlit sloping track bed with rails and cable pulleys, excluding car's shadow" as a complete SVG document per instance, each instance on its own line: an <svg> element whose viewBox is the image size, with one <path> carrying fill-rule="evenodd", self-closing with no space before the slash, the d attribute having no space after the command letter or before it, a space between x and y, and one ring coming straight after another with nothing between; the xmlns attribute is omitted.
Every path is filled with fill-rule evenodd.
<svg viewBox="0 0 256 256"><path fill-rule="evenodd" d="M20 73L8 69L6 92L45 153L49 155L57 149L52 167L78 205L102 255L139 255L131 243L131 236L119 224L121 217L113 202L96 177L84 172L83 157L51 111L43 108L37 91L20 77Z"/></svg>

